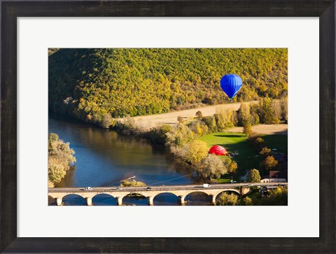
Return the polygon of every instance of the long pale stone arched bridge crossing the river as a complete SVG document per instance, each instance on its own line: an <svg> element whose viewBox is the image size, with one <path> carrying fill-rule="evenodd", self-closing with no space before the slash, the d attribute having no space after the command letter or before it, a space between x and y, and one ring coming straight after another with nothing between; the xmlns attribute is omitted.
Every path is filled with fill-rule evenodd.
<svg viewBox="0 0 336 254"><path fill-rule="evenodd" d="M287 183L281 183L287 185ZM230 183L230 184L214 184L207 188L203 185L168 185L168 186L151 186L151 187L94 187L91 190L85 188L49 188L48 195L56 199L57 206L62 204L62 199L66 195L78 195L86 200L88 206L92 205L92 198L96 195L107 194L116 198L117 204L123 204L123 198L127 195L142 195L147 197L148 204L153 205L154 197L162 193L172 193L179 197L181 204L184 204L184 199L187 195L193 192L203 192L211 197L213 204L216 204L216 197L221 192L236 192L238 195L246 195L253 186L265 186L274 188L279 186L279 183Z"/></svg>

